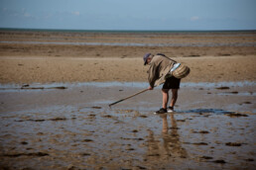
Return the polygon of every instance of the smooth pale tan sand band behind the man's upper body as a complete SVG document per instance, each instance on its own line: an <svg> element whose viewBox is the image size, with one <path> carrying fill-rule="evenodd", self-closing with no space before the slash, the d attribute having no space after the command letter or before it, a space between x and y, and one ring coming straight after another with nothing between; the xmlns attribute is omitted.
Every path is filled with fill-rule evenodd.
<svg viewBox="0 0 256 170"><path fill-rule="evenodd" d="M255 81L255 56L177 57L192 71L184 82ZM0 57L1 83L146 82L142 58Z"/></svg>

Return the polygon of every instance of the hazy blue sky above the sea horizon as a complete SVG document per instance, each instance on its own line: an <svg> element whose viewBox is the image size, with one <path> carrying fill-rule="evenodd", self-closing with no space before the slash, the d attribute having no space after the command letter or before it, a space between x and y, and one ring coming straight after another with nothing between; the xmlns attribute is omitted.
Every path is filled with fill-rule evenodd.
<svg viewBox="0 0 256 170"><path fill-rule="evenodd" d="M0 0L0 28L256 30L256 0Z"/></svg>

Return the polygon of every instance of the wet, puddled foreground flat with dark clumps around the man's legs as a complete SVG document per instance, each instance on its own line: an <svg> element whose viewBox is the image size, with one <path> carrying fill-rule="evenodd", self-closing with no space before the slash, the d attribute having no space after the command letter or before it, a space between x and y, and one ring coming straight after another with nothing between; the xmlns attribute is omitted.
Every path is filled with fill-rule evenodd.
<svg viewBox="0 0 256 170"><path fill-rule="evenodd" d="M144 85L30 85L66 87L43 90L3 85L0 165L11 169L255 167L255 95L242 95L255 94L255 83L184 83L174 114L153 114L161 106L160 89L108 107ZM216 89L220 85L229 89ZM238 93L222 94L230 91Z"/></svg>

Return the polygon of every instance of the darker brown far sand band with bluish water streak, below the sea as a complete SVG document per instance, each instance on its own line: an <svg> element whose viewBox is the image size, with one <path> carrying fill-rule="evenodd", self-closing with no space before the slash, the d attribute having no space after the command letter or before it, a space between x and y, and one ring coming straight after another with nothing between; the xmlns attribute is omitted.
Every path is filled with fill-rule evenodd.
<svg viewBox="0 0 256 170"><path fill-rule="evenodd" d="M256 32L253 31L211 33L0 31L0 56L133 58L142 57L146 52L162 52L170 57L255 55L255 38ZM82 45L85 42L90 45Z"/></svg>

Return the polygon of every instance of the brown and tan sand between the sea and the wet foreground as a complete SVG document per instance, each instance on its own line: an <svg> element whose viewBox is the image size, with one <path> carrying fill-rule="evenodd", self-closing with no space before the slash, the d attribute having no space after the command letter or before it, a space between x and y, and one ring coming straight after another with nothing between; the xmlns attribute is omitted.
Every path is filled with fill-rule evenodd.
<svg viewBox="0 0 256 170"><path fill-rule="evenodd" d="M256 79L255 32L96 34L1 31L0 35L0 83L145 82L148 68L143 66L142 56L146 52L162 52L188 64L192 68L192 74L184 80L188 82ZM140 44L144 46L138 46ZM159 44L171 46L156 46Z"/></svg>

